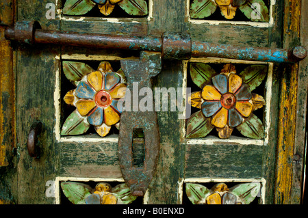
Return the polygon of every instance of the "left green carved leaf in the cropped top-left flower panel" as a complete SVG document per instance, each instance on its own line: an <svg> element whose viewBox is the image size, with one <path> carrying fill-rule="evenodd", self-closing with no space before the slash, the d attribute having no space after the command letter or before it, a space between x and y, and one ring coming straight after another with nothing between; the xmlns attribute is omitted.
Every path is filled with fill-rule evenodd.
<svg viewBox="0 0 308 218"><path fill-rule="evenodd" d="M67 0L64 4L63 14L82 15L86 14L96 4L91 0Z"/></svg>

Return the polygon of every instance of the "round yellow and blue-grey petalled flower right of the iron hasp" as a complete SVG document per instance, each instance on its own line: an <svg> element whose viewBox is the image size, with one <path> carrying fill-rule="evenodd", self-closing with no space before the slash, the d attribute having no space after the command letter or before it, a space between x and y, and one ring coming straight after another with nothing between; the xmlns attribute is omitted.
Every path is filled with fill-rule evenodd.
<svg viewBox="0 0 308 218"><path fill-rule="evenodd" d="M204 102L201 110L206 118L212 117L211 124L217 128L234 128L248 118L253 111L251 90L236 74L218 74L211 78L213 85L202 90Z"/></svg>

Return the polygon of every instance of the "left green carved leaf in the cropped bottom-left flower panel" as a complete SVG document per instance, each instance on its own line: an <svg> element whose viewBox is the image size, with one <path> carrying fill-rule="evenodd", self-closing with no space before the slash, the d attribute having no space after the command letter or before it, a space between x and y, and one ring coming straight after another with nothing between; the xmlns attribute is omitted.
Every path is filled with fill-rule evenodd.
<svg viewBox="0 0 308 218"><path fill-rule="evenodd" d="M86 204L85 198L92 193L92 188L79 182L62 182L64 195L73 204Z"/></svg>

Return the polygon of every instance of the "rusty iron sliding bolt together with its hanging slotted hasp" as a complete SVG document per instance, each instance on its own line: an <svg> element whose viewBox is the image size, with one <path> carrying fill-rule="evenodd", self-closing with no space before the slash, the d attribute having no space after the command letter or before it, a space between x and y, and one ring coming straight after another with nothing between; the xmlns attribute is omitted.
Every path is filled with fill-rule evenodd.
<svg viewBox="0 0 308 218"><path fill-rule="evenodd" d="M122 60L121 68L127 77L127 88L133 83L138 89L151 88L151 77L159 74L162 59L190 59L190 57L219 57L260 62L294 63L307 56L303 46L292 49L269 49L197 42L188 33L164 33L162 38L151 36L109 36L94 33L42 30L37 21L19 21L6 27L5 38L25 44L60 44L86 46L97 49L140 51L140 58ZM132 96L131 96L132 98ZM131 101L133 101L131 99ZM144 166L133 165L133 130L144 131ZM153 111L123 111L120 119L118 157L125 182L133 195L142 196L155 173L159 155L159 127Z"/></svg>

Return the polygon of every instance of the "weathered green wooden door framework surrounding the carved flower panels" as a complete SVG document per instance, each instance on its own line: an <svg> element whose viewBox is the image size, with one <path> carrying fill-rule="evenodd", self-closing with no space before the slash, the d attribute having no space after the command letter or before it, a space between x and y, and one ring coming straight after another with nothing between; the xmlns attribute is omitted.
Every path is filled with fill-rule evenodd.
<svg viewBox="0 0 308 218"><path fill-rule="evenodd" d="M56 6L57 16L54 20L48 20L44 1L14 1L16 21L36 20L42 29L156 37L167 31L187 32L192 40L270 48L290 48L299 44L301 38L301 43L307 46L307 40L303 38L306 34L307 3L303 1L269 1L268 23L192 19L189 0L146 2L149 4L148 16L105 18L64 15L64 1L54 0L51 3ZM46 44L24 46L13 42L12 48L12 55L16 55L16 112L13 110L13 113L16 113L17 149L14 157L16 165L13 166L15 172L12 174L18 178L12 184L16 190L12 195L16 202L61 203L60 184L65 180L99 182L105 179L105 182L123 182L118 164L118 135L103 138L60 135L64 119L61 92L65 85L62 80L62 60L118 62L120 59L136 58L139 53ZM231 59L200 60L247 64ZM153 90L155 87L190 87L188 63L196 61L198 58L184 62L163 59L162 71L151 81ZM188 204L185 185L189 182L214 185L213 182L240 184L253 181L261 184L260 204L300 202L305 153L307 60L300 64L268 66L270 77L263 87L267 105L261 116L266 126L262 139L246 139L238 135L229 139L215 136L188 139L185 137L186 120L178 117L181 111L157 111L160 137L157 169L146 197L138 204ZM184 91L185 94L188 93ZM31 158L27 152L27 134L36 120L40 120L44 126L38 138L39 159ZM138 144L138 140L135 142ZM138 164L143 159L142 149L141 146L134 150L140 162ZM6 182L12 180L12 174L7 176ZM55 197L47 197L47 181L56 182ZM0 183L1 186L3 184Z"/></svg>

